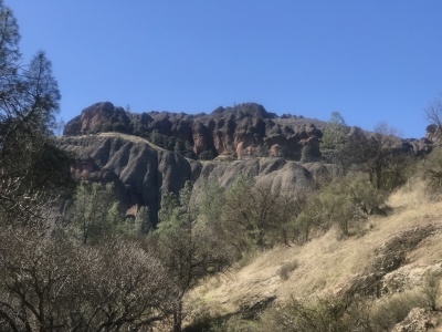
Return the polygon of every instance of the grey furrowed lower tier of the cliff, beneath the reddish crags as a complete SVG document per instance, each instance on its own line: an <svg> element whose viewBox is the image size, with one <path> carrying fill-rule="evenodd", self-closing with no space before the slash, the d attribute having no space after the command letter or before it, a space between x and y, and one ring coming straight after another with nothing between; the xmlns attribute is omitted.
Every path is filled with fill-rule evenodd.
<svg viewBox="0 0 442 332"><path fill-rule="evenodd" d="M318 172L328 172L325 166L308 170L311 164L270 157L200 163L144 138L117 133L64 136L59 145L75 155L75 178L115 183L123 208L148 206L154 221L164 193L178 193L187 180L198 188L200 176L215 177L228 187L238 176L246 175L265 181L273 190L301 190L314 185Z"/></svg>

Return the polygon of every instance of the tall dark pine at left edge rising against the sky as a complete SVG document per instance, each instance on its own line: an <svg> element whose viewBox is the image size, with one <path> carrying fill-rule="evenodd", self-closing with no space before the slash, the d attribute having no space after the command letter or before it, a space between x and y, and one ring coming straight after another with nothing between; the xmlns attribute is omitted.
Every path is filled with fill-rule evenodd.
<svg viewBox="0 0 442 332"><path fill-rule="evenodd" d="M50 210L70 158L52 141L61 95L51 62L39 52L21 64L18 24L2 1L0 29L0 214L18 222Z"/></svg>

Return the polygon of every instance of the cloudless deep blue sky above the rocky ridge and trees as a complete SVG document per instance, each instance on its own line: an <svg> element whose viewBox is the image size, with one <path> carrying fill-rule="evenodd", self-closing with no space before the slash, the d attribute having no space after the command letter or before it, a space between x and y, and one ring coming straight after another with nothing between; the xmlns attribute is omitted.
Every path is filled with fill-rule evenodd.
<svg viewBox="0 0 442 332"><path fill-rule="evenodd" d="M442 92L441 0L4 0L29 61L44 50L64 121L131 112L277 114L422 137Z"/></svg>

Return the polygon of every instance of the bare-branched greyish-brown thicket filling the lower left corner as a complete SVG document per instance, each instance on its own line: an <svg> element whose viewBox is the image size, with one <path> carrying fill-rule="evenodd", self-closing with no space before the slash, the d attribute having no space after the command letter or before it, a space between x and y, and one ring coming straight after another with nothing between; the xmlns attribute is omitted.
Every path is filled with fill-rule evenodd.
<svg viewBox="0 0 442 332"><path fill-rule="evenodd" d="M150 331L170 311L165 267L134 241L75 247L24 227L0 239L1 331Z"/></svg>

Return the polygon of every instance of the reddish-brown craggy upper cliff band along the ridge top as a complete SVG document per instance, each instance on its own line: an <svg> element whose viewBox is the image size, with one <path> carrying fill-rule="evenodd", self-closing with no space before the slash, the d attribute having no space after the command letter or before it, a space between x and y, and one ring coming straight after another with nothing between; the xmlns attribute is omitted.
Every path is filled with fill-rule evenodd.
<svg viewBox="0 0 442 332"><path fill-rule="evenodd" d="M148 137L161 147L209 159L217 156L238 159L273 156L301 160L304 149L308 151L307 162L320 158L319 139L323 135L315 124L302 117L278 117L255 103L218 107L209 115L188 115L126 113L109 102L83 110L80 116L66 124L64 135L103 132Z"/></svg>

